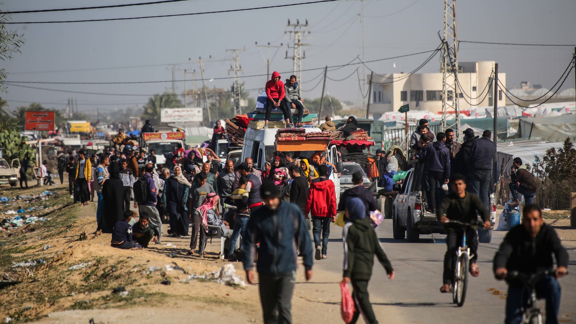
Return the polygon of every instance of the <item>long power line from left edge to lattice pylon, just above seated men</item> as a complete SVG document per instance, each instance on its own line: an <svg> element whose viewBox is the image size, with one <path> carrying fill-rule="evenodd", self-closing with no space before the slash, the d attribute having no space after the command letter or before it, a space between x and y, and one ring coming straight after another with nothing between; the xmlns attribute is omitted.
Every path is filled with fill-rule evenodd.
<svg viewBox="0 0 576 324"><path fill-rule="evenodd" d="M330 71L335 71L338 69L341 69L342 67L345 66L349 66L349 65L357 65L357 64L362 64L362 63L372 63L372 62L380 62L380 61L386 61L389 59L397 59L397 58L405 58L408 56L414 56L414 55L420 55L420 54L426 54L426 53L430 53L430 52L436 52L438 51L438 48L436 48L435 50L429 50L429 51L423 51L423 52L416 52L416 53L411 53L411 54L404 54L404 55L397 55L397 56L391 56L388 58L380 58L380 59L373 59L371 61L366 61L366 62L354 62L355 60L359 59L358 57L355 57L352 61L346 63L346 64L341 64L341 65L333 65L333 66L328 66L328 69L332 69ZM354 63L353 63L354 62ZM313 69L304 69L302 70L302 72L304 71L316 71L316 70L324 70L324 67L314 67ZM281 74L286 74L286 73L291 73L292 71L283 71L280 72ZM251 77L264 77L267 76L267 74L253 74L251 76L242 76L242 78L251 78ZM233 79L234 77L220 77L220 78L209 78L206 77L206 80L228 80L228 79ZM184 80L174 80L175 82L183 82ZM16 85L16 84L150 84L150 83L166 83L166 82L172 82L172 80L161 80L161 81L118 81L118 82L54 82L54 81L6 81L6 84L12 84L12 85ZM147 96L147 95L146 95Z"/></svg>

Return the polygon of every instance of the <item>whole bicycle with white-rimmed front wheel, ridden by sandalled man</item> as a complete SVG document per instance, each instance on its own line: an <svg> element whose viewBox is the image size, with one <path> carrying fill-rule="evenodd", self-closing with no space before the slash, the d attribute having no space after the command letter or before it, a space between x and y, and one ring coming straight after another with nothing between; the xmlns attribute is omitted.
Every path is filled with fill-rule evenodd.
<svg viewBox="0 0 576 324"><path fill-rule="evenodd" d="M462 244L456 250L456 264L454 265L454 281L452 284L452 303L458 307L464 305L466 299L466 289L468 288L468 267L470 259L474 256L470 254L470 248L466 246L466 228L469 226L483 225L480 221L473 223L463 223L461 221L449 220L444 224L458 224L463 229Z"/></svg>

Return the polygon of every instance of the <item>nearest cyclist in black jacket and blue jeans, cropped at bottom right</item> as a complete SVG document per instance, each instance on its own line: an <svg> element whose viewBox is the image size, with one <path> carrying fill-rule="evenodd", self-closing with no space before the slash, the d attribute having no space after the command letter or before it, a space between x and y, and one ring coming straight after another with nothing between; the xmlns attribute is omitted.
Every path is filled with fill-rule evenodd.
<svg viewBox="0 0 576 324"><path fill-rule="evenodd" d="M513 271L530 276L553 268L552 254L558 264L555 276L545 276L535 286L536 296L546 299L547 324L558 323L560 285L556 279L568 272L568 253L560 244L554 228L544 224L539 206L524 207L522 225L510 229L494 255L494 275L504 279ZM518 324L522 321L521 307L526 304L529 292L516 280L509 280L508 284L505 322Z"/></svg>

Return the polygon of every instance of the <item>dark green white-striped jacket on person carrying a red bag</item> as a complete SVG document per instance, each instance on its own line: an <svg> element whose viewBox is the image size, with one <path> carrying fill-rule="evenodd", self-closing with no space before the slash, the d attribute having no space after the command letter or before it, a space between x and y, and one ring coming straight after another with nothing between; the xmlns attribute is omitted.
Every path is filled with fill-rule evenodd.
<svg viewBox="0 0 576 324"><path fill-rule="evenodd" d="M380 241L369 218L346 223L342 240L344 241L344 277L370 280L374 254L386 269L386 273L392 272L392 265L380 247Z"/></svg>

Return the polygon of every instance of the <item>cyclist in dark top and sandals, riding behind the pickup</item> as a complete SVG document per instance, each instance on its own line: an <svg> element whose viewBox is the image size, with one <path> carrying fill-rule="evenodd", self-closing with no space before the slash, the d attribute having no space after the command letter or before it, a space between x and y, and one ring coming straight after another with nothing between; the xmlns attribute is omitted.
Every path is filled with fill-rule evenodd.
<svg viewBox="0 0 576 324"><path fill-rule="evenodd" d="M449 194L436 210L436 217L441 223L446 223L449 220L461 221L463 223L474 223L478 217L476 212L480 214L484 221L484 228L490 228L490 221L488 220L488 210L480 198L466 191L466 183L464 176L461 174L454 174L450 177L452 184L452 194ZM442 278L444 285L440 287L440 292L450 292L454 278L454 263L456 262L456 250L462 240L464 229L460 226L452 226L446 224L446 254L444 254L444 274ZM478 233L476 229L466 227L466 245L470 248L470 274L473 277L478 277L480 270L476 259L478 259Z"/></svg>

